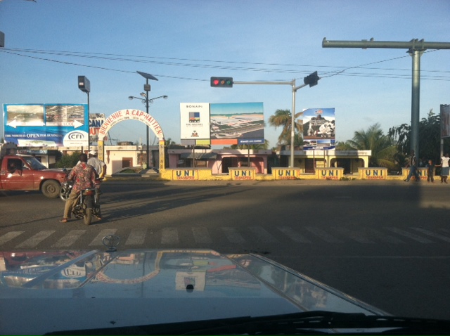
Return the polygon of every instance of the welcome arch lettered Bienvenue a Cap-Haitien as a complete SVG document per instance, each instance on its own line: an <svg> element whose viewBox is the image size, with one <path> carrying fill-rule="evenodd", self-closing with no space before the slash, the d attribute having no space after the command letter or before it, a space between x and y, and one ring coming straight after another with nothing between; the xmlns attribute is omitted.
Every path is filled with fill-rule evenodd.
<svg viewBox="0 0 450 336"><path fill-rule="evenodd" d="M125 120L137 120L146 124L148 129L151 129L155 136L158 137L159 150L160 150L160 170L165 169L165 138L164 133L162 132L162 128L158 121L153 118L151 115L143 112L141 110L119 110L110 115L105 122L101 125L98 130L98 158L100 160L104 160L104 138L108 134L113 126L118 124L119 122L124 122ZM148 153L147 153L148 155Z"/></svg>

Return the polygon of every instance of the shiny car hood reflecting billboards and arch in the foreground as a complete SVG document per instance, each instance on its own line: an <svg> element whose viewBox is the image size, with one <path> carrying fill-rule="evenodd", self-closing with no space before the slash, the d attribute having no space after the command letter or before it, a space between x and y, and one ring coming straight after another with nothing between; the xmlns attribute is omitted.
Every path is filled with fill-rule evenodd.
<svg viewBox="0 0 450 336"><path fill-rule="evenodd" d="M255 254L0 252L3 335L317 310L385 314Z"/></svg>

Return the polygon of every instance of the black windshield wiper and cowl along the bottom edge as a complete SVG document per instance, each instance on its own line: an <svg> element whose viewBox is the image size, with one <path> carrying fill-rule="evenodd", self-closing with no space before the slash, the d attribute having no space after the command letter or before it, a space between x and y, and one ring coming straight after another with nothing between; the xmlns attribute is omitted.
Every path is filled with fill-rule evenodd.
<svg viewBox="0 0 450 336"><path fill-rule="evenodd" d="M359 313L335 313L332 311L307 311L275 316L244 316L218 320L139 325L129 328L49 332L45 336L321 335L334 332L372 335L401 334L404 332L420 335L425 332L439 332L439 335L450 335L450 321L398 316L367 316Z"/></svg>

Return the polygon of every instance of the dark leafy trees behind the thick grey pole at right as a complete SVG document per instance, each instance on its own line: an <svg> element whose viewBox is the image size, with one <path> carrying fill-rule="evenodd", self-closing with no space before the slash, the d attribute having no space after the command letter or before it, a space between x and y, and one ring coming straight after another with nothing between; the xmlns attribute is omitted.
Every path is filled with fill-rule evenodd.
<svg viewBox="0 0 450 336"><path fill-rule="evenodd" d="M406 160L406 156L411 151L411 126L401 124L397 127L391 127L388 134L397 144L399 157L404 157L404 160ZM435 115L432 109L428 112L426 118L420 120L418 137L420 141L418 158L439 162L439 157L441 157L441 118L439 115ZM449 144L449 139L445 138L444 153L449 150Z"/></svg>

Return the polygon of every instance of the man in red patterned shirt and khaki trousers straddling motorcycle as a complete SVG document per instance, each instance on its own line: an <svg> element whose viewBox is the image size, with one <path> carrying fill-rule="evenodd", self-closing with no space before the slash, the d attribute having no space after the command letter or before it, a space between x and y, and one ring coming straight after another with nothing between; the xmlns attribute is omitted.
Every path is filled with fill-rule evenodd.
<svg viewBox="0 0 450 336"><path fill-rule="evenodd" d="M78 194L86 188L93 188L96 180L96 172L94 167L87 164L87 155L82 153L79 155L79 164L70 171L68 180L75 181L72 186L68 200L65 201L63 219L61 223L67 223L72 214L72 208L77 202Z"/></svg>

